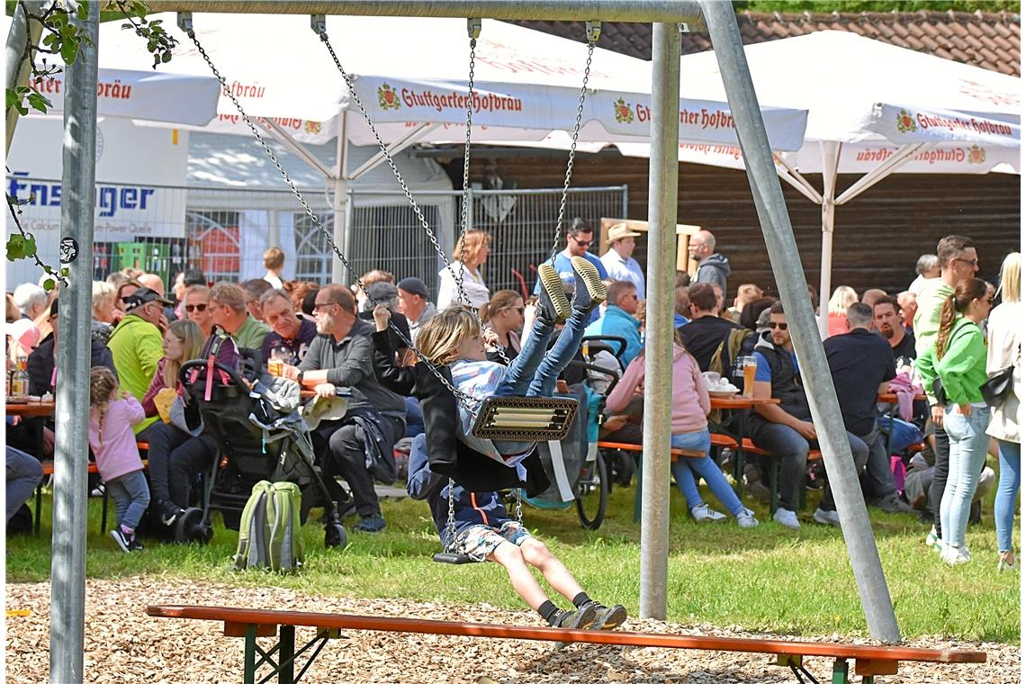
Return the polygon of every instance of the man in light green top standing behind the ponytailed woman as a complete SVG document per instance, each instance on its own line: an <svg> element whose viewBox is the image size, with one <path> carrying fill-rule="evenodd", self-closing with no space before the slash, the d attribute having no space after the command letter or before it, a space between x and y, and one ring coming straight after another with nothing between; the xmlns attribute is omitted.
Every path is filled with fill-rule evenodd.
<svg viewBox="0 0 1026 684"><path fill-rule="evenodd" d="M941 311L945 300L954 292L955 286L974 277L980 270L976 245L962 235L942 238L937 243L937 259L941 267L941 276L932 278L923 284L916 299L918 308L912 319L916 358L922 358L926 350L936 344L937 330L941 324ZM930 383L924 384L924 389L936 428L934 479L930 484L930 506L934 514L934 527L926 535L926 545L940 551L940 537L944 531L941 520L941 497L948 479L948 435L944 431L944 406L934 397Z"/></svg>

